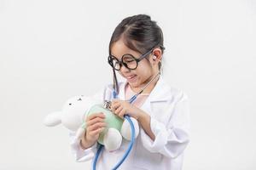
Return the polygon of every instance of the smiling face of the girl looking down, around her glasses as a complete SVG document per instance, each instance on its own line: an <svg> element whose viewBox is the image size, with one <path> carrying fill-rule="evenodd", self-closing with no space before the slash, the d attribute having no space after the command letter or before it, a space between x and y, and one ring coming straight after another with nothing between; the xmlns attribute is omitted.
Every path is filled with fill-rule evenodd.
<svg viewBox="0 0 256 170"><path fill-rule="evenodd" d="M124 54L131 54L137 59L142 55L126 47L122 40L113 43L111 54L119 61ZM157 74L158 68L155 69L155 65L151 63L152 54L148 54L146 58L138 62L135 70L129 70L124 65L121 66L119 74L127 80L131 88L142 88Z"/></svg>

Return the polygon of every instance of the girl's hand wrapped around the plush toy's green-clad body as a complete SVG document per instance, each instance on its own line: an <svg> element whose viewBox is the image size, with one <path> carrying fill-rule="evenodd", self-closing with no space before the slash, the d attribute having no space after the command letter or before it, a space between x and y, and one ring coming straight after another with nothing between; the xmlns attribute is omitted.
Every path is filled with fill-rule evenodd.
<svg viewBox="0 0 256 170"><path fill-rule="evenodd" d="M86 132L84 134L84 145L93 145L96 143L97 139L100 136L100 133L106 127L104 122L105 115L103 113L96 113L90 115L86 119Z"/></svg>

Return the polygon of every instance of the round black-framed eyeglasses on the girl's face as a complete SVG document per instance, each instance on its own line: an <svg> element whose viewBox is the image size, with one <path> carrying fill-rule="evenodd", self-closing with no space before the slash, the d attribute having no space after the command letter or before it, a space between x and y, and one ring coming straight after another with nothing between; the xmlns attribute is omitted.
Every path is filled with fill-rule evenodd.
<svg viewBox="0 0 256 170"><path fill-rule="evenodd" d="M122 65L125 65L125 67L129 70L135 70L137 69L138 62L147 57L148 54L150 54L153 50L154 48L150 49L147 53L143 54L138 59L135 58L132 54L124 54L121 61L110 54L108 56L108 64L111 65L112 68L116 71L119 71Z"/></svg>

